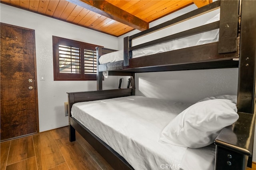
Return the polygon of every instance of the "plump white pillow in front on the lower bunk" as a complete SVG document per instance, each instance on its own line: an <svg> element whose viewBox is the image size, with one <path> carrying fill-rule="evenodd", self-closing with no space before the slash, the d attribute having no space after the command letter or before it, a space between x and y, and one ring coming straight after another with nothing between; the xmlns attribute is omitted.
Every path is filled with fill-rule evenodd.
<svg viewBox="0 0 256 170"><path fill-rule="evenodd" d="M195 103L164 128L159 142L201 148L214 142L220 130L238 119L236 104L227 99Z"/></svg>

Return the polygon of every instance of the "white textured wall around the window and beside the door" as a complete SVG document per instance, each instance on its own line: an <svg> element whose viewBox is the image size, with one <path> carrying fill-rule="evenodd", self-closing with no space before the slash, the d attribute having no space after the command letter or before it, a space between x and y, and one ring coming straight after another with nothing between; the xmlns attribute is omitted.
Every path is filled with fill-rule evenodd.
<svg viewBox="0 0 256 170"><path fill-rule="evenodd" d="M64 116L66 92L96 90L96 81L53 81L52 36L113 49L117 49L117 38L5 4L0 4L0 10L2 23L35 30L40 132L68 125ZM40 81L40 75L45 75L45 81ZM117 77L110 76L103 87L117 88L116 82Z"/></svg>

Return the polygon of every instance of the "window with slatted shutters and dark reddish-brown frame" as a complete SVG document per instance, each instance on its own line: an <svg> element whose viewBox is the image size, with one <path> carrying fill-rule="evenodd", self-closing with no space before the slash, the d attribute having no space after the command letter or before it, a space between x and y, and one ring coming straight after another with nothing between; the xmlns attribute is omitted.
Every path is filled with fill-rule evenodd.
<svg viewBox="0 0 256 170"><path fill-rule="evenodd" d="M54 80L96 80L98 45L52 36Z"/></svg>

